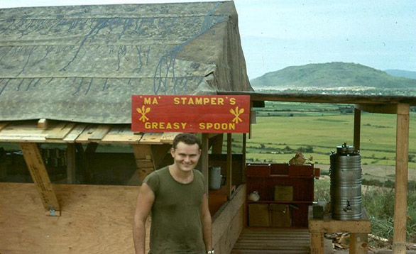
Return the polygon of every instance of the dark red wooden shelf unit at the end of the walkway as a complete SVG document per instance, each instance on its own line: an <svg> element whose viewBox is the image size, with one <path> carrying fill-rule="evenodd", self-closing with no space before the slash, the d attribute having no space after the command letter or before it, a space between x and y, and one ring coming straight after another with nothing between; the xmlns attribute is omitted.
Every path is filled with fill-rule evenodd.
<svg viewBox="0 0 416 254"><path fill-rule="evenodd" d="M249 163L247 193L256 191L261 199L247 200L248 226L306 228L308 206L314 200L314 178L318 175L319 169L314 165ZM283 195L276 196L276 191Z"/></svg>

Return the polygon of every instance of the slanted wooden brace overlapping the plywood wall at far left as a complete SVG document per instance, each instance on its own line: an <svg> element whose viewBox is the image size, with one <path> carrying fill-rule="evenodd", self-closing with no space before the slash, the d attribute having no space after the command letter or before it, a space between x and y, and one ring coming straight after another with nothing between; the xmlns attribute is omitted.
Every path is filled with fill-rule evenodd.
<svg viewBox="0 0 416 254"><path fill-rule="evenodd" d="M53 191L48 172L46 172L45 165L43 164L38 144L21 143L20 145L23 158L26 161L29 172L31 172L32 180L35 182L36 189L38 189L46 215L60 216L58 199Z"/></svg>

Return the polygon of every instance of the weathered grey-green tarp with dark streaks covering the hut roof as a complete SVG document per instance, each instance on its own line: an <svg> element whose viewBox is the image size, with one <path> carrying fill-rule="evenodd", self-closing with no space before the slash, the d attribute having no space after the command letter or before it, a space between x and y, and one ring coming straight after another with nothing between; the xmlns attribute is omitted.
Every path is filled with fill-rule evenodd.
<svg viewBox="0 0 416 254"><path fill-rule="evenodd" d="M131 94L252 91L232 1L0 9L0 121L131 123Z"/></svg>

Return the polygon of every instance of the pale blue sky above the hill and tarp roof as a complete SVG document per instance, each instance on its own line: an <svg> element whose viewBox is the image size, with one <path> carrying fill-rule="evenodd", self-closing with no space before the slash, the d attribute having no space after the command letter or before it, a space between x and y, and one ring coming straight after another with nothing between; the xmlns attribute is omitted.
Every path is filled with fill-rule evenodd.
<svg viewBox="0 0 416 254"><path fill-rule="evenodd" d="M0 7L177 1L0 0ZM317 62L356 62L378 70L416 71L414 0L234 3L250 79L288 66Z"/></svg>

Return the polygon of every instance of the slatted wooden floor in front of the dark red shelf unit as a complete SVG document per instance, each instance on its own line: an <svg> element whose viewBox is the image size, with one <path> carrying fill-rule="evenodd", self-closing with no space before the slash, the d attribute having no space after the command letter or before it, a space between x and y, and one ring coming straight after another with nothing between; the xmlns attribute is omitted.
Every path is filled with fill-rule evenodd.
<svg viewBox="0 0 416 254"><path fill-rule="evenodd" d="M244 228L231 254L309 254L310 234L300 228Z"/></svg>

